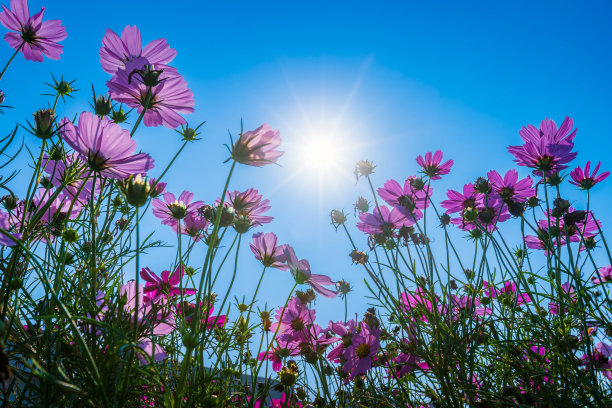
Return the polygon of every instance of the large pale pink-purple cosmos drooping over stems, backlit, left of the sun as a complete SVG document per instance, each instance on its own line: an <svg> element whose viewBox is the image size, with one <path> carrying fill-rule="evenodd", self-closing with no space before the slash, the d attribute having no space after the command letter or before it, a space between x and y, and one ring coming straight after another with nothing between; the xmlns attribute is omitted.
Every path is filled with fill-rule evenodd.
<svg viewBox="0 0 612 408"><path fill-rule="evenodd" d="M62 138L81 155L89 168L103 177L123 180L132 174L145 174L153 168L153 159L137 153L130 132L91 112L79 116L75 127L67 118L60 122Z"/></svg>

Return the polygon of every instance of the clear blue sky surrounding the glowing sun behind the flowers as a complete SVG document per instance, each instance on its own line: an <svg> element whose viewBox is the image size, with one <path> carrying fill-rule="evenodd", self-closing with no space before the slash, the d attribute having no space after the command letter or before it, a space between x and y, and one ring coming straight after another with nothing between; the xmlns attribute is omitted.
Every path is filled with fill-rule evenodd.
<svg viewBox="0 0 612 408"><path fill-rule="evenodd" d="M7 3L5 0L3 3ZM77 1L31 1L31 11L46 6L46 18L61 19L68 38L60 61L33 63L18 57L0 82L7 104L0 117L7 133L44 106L41 82L49 72L77 78L77 100L63 108L74 115L89 102L90 83L105 91L98 59L107 28L121 32L137 25L144 42L165 37L178 52L176 66L193 90L196 112L190 123L207 121L203 140L181 156L166 179L170 191L187 189L205 202L221 192L228 165L228 130L236 134L261 123L278 128L285 156L280 166L241 166L231 187L255 187L271 201L274 231L307 258L313 272L345 278L356 287L350 312L366 307L363 273L350 264L347 240L329 225L332 208L351 212L367 193L350 175L354 162L378 165L377 185L403 181L417 172L414 158L442 149L455 159L453 173L435 187L438 200L448 188L512 168L506 152L518 144L518 130L544 117L560 123L566 115L578 127L576 164L602 160L612 168L607 118L612 110L609 75L612 33L608 2L391 2L391 1L106 1L95 9ZM0 63L12 54L0 44ZM132 120L134 120L133 118ZM38 141L22 132L30 146ZM336 158L345 173L324 177L308 171L302 146L313 138L338 142ZM161 168L180 146L171 130L141 127L136 140ZM24 166L25 156L17 166ZM300 170L302 165L306 170ZM521 169L522 175L527 175ZM24 172L25 173L25 172ZM155 171L153 171L155 175ZM580 203L582 196L574 194ZM595 191L595 205L606 208L612 187ZM595 207L597 208L597 207ZM606 212L597 214L604 224ZM172 242L151 218L148 225ZM460 234L457 234L458 236ZM363 240L361 241L363 242ZM202 248L200 251L204 251ZM203 255L202 255L203 257ZM142 261L161 271L171 250ZM235 286L247 295L260 268L246 245ZM197 263L194 265L197 266ZM223 282L222 282L223 284ZM270 271L261 298L284 302L291 278ZM318 301L323 323L341 316L340 301Z"/></svg>

